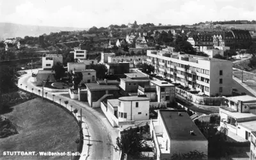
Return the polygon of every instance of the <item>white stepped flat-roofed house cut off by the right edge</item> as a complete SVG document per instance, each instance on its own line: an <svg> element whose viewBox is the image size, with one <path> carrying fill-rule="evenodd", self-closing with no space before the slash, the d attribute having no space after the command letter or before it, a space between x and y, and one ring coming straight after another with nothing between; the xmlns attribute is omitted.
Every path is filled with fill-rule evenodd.
<svg viewBox="0 0 256 160"><path fill-rule="evenodd" d="M256 97L226 97L220 106L220 118L220 126L225 126L228 132L250 141L252 132L256 131Z"/></svg>

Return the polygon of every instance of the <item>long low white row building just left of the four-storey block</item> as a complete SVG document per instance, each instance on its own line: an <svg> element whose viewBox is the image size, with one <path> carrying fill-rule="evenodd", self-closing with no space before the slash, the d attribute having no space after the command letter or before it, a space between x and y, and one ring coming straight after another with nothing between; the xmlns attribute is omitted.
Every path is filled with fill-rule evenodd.
<svg viewBox="0 0 256 160"><path fill-rule="evenodd" d="M109 56L108 63L112 62L129 62L130 68L136 67L139 63L142 63L143 60L147 60L147 56Z"/></svg>

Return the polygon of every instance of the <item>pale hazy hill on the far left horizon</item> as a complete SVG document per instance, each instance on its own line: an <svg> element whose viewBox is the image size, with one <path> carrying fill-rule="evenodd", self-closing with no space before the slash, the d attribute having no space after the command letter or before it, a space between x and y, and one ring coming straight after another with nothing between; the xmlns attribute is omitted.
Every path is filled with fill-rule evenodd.
<svg viewBox="0 0 256 160"><path fill-rule="evenodd" d="M88 30L86 28L60 28L52 26L29 26L22 24L13 24L0 22L0 38L15 38L24 36L39 36L60 31L77 31L77 30Z"/></svg>

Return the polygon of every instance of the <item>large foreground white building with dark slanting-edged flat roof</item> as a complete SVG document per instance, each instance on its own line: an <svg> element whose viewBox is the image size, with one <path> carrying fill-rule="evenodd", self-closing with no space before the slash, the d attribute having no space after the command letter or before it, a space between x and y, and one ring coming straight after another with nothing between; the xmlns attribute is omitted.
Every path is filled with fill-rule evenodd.
<svg viewBox="0 0 256 160"><path fill-rule="evenodd" d="M157 160L195 150L208 154L207 139L184 110L159 109L157 120L150 122L150 134Z"/></svg>

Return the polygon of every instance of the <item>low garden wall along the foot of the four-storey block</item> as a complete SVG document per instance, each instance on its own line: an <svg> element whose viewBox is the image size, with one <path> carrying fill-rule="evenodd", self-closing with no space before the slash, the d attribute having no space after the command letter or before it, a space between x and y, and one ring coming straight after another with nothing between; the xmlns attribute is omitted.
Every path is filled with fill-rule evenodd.
<svg viewBox="0 0 256 160"><path fill-rule="evenodd" d="M202 97L202 96L187 92L186 90L182 90L178 87L175 88L175 92L190 102L194 102L196 104L202 104L205 106L220 106L221 102L224 100L224 97Z"/></svg>

